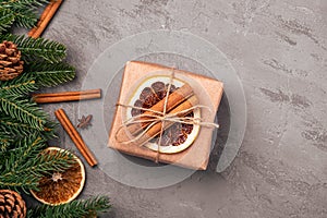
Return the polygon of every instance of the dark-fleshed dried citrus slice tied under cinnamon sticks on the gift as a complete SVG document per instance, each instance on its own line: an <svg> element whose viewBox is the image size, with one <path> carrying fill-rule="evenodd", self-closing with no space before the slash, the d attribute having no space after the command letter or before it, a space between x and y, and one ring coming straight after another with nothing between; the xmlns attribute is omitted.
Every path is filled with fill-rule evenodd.
<svg viewBox="0 0 327 218"><path fill-rule="evenodd" d="M168 86L170 83L169 76L154 76L143 81L134 90L129 105L133 105L138 108L150 108L158 101L164 99L168 94ZM172 81L169 94L173 93L179 87L185 84L184 81L174 78ZM144 110L132 108L126 110L126 118L138 116ZM194 118L201 118L201 110L196 109L192 113L187 114ZM174 123L167 129L161 135L161 143L159 144L159 137L153 138L145 144L147 148L160 152L165 154L180 153L190 147L199 132L199 125ZM159 146L159 147L158 147Z"/></svg>

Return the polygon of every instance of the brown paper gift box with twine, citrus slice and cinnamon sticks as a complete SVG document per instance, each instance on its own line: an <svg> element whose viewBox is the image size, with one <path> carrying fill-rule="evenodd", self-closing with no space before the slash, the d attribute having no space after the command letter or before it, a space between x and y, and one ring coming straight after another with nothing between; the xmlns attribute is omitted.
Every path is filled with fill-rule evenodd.
<svg viewBox="0 0 327 218"><path fill-rule="evenodd" d="M108 146L195 170L208 165L223 84L155 63L125 64Z"/></svg>

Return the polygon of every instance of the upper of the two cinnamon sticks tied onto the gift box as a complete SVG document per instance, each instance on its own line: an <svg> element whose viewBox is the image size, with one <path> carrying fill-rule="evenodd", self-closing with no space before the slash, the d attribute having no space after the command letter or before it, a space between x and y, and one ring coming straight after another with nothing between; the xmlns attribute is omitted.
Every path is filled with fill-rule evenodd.
<svg viewBox="0 0 327 218"><path fill-rule="evenodd" d="M178 88L175 92L173 92L172 94L170 94L168 96L168 101L166 105L166 112L169 112L170 110L172 110L174 107L180 105L182 101L184 101L192 95L193 95L193 89L189 84L185 84L182 87ZM154 110L154 111L162 112L164 107L165 107L165 101L166 101L166 99L164 98L149 109ZM156 113L152 112L152 111L145 111L142 114L144 116L143 119L147 119L146 116L153 116ZM148 119L150 119L150 117L148 117ZM134 134L137 134L138 132L141 132L142 129L146 128L149 123L150 122L144 122L142 124L134 123L134 124L129 125L126 131L129 131L130 134L134 135Z"/></svg>

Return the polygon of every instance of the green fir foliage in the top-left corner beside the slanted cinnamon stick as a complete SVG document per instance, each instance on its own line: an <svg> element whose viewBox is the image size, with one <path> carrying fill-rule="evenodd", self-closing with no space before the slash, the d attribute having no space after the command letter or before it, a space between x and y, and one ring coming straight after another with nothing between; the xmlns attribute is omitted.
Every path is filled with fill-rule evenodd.
<svg viewBox="0 0 327 218"><path fill-rule="evenodd" d="M13 24L25 28L35 26L37 7L47 0L1 0L0 1L0 33L7 32Z"/></svg>

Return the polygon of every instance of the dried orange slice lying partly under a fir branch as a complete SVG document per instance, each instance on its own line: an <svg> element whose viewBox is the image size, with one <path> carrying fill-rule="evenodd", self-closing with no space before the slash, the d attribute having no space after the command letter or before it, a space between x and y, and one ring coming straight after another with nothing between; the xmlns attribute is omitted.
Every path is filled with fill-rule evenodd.
<svg viewBox="0 0 327 218"><path fill-rule="evenodd" d="M47 150L50 150L51 154L65 152L58 147L48 147ZM72 164L72 167L63 172L52 171L51 174L45 175L39 181L39 191L31 191L36 199L55 206L69 203L77 197L85 183L85 169L82 161L75 155L73 157L75 162Z"/></svg>

